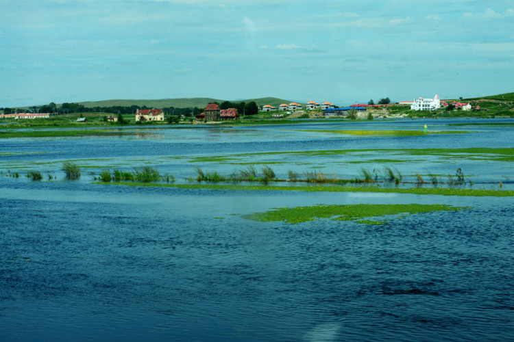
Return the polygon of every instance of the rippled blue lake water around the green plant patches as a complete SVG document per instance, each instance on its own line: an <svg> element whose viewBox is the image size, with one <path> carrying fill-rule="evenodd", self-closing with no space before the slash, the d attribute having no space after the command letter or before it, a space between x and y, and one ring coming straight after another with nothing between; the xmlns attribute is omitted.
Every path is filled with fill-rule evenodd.
<svg viewBox="0 0 514 342"><path fill-rule="evenodd" d="M506 124L472 124L487 122ZM326 132L425 123L429 131L471 133ZM501 189L512 189L511 161L401 150L514 148L513 123L132 127L123 129L130 135L110 137L0 140L0 341L514 341L512 197L93 184L93 173L108 168L151 165L187 183L193 166L228 174L256 163L282 177L289 170L348 177L393 166L406 180L416 172L442 179L461 168L474 188L500 189L501 181ZM360 152L308 153L317 150ZM79 181L64 180L62 161L81 166ZM45 181L25 178L28 170ZM469 209L377 226L241 217L356 203Z"/></svg>

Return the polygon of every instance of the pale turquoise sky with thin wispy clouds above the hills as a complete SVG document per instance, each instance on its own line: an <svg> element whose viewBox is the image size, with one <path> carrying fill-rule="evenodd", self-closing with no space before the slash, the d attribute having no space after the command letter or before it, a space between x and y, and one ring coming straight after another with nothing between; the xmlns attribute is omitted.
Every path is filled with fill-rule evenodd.
<svg viewBox="0 0 514 342"><path fill-rule="evenodd" d="M514 0L1 0L0 107L514 92Z"/></svg>

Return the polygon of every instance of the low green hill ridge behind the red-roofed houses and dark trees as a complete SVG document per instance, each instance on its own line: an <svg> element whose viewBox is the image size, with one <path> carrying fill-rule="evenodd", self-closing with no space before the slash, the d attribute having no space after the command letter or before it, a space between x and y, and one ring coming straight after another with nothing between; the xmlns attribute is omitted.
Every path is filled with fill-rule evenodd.
<svg viewBox="0 0 514 342"><path fill-rule="evenodd" d="M220 100L218 98L208 98L208 97L193 97L193 98L163 98L160 100L105 100L105 101L86 101L79 102L80 105L84 105L86 108L91 107L111 107L111 106L122 106L122 107L130 107L132 105L136 106L147 106L151 108L167 108L167 107L175 107L175 108L191 108L191 107L199 107L204 108L210 102L222 103L224 101L230 100ZM234 103L245 102L249 103L255 101L257 105L260 107L262 105L272 105L274 107L278 107L282 103L291 103L292 101L284 100L276 97L262 97L262 98L249 98L248 100L240 100L240 101L230 101Z"/></svg>

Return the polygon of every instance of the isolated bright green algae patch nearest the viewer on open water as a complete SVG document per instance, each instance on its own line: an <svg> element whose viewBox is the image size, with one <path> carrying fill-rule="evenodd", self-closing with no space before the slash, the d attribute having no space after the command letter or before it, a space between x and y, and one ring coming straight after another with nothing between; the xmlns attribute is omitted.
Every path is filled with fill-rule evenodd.
<svg viewBox="0 0 514 342"><path fill-rule="evenodd" d="M287 222L297 224L323 218L354 221L361 224L384 224L384 216L398 214L431 213L434 211L458 211L468 207L449 205L316 205L313 207L278 208L263 213L243 215L247 220L259 222ZM381 220L376 220L381 218ZM397 218L397 217L396 217Z"/></svg>

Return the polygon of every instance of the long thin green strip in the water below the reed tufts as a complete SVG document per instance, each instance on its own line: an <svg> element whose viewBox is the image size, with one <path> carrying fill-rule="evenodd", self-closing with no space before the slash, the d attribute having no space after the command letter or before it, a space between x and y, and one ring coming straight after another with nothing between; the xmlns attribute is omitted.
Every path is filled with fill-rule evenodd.
<svg viewBox="0 0 514 342"><path fill-rule="evenodd" d="M281 185L223 185L223 184L164 184L164 183L136 183L116 182L95 184L127 185L136 187L176 187L179 189L210 189L210 190L238 190L238 191L299 191L299 192L380 192L416 195L443 195L443 196L493 196L513 197L511 190L487 189L452 189L445 187L411 187L407 189L393 187L347 187L338 185L310 185L310 186L281 186Z"/></svg>

